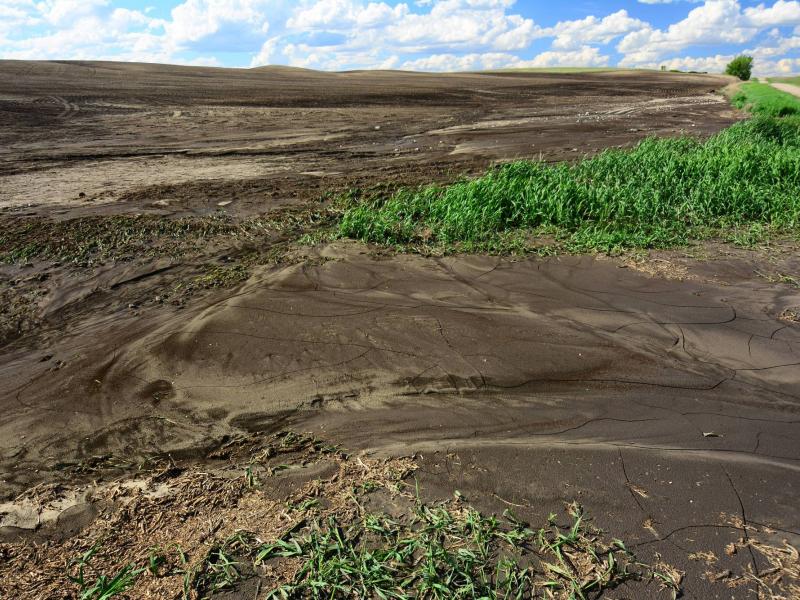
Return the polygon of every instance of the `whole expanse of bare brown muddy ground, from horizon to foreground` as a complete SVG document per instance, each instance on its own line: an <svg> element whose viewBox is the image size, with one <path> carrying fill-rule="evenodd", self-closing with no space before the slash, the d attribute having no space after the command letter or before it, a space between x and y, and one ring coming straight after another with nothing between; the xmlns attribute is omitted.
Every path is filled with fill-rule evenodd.
<svg viewBox="0 0 800 600"><path fill-rule="evenodd" d="M166 456L217 469L227 441L292 429L413 455L427 497L459 490L486 512L540 522L577 500L685 572L686 597L797 590L748 545L800 541L795 247L313 244L352 188L711 134L740 118L726 79L0 71L6 553L91 528L76 486ZM36 485L71 501L32 508Z"/></svg>

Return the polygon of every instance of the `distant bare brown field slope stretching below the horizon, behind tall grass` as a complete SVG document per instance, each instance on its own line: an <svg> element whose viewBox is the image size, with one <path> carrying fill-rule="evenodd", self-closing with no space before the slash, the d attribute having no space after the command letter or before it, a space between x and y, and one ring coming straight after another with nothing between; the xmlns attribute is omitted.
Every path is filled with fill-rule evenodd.
<svg viewBox="0 0 800 600"><path fill-rule="evenodd" d="M737 117L727 79L0 61L0 207L260 213L493 161L573 159ZM103 208L100 208L102 205Z"/></svg>

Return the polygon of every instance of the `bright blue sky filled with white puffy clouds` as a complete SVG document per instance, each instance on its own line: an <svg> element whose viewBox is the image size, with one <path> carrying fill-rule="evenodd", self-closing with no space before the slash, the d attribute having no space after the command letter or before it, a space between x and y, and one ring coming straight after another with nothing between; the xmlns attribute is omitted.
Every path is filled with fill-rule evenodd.
<svg viewBox="0 0 800 600"><path fill-rule="evenodd" d="M800 73L799 0L0 0L0 59Z"/></svg>

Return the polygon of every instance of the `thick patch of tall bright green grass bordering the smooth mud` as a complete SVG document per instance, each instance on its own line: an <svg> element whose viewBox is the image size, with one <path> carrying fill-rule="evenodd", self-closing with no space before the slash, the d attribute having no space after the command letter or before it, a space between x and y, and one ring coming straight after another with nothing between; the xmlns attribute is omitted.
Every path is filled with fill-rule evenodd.
<svg viewBox="0 0 800 600"><path fill-rule="evenodd" d="M669 247L732 228L796 231L800 117L651 138L576 164L514 162L451 185L352 202L340 233L384 244L491 245L554 233L569 250Z"/></svg>

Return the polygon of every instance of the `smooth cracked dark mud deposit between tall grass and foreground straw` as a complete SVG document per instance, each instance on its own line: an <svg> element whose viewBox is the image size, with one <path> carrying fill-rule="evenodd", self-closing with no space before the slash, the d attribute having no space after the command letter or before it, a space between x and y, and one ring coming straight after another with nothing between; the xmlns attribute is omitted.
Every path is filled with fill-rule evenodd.
<svg viewBox="0 0 800 600"><path fill-rule="evenodd" d="M800 539L800 328L779 319L800 292L736 277L748 268L669 281L590 257L323 247L160 324L119 324L130 337L86 330L47 362L7 362L4 490L56 460L201 456L291 425L416 453L426 488L487 511L541 518L576 499L686 570L689 597L748 597L755 584L729 589L686 558L758 573L725 547L749 527Z"/></svg>

